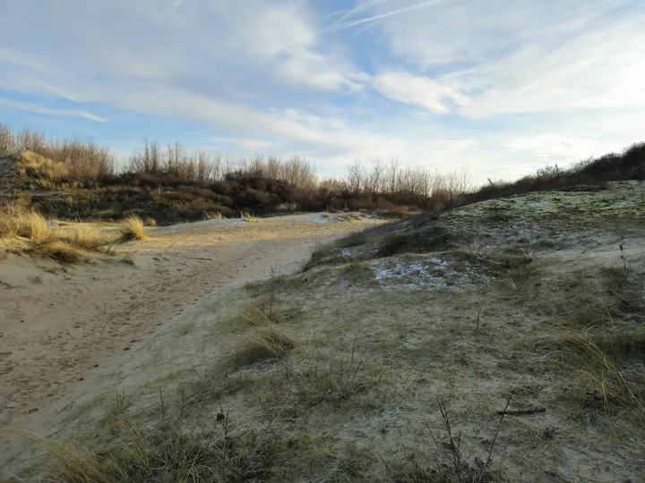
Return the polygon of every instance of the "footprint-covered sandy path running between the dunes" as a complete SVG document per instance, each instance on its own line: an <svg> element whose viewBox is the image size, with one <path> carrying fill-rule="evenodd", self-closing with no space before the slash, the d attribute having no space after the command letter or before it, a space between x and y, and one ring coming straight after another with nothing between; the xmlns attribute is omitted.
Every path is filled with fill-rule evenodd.
<svg viewBox="0 0 645 483"><path fill-rule="evenodd" d="M0 426L46 434L71 394L91 391L101 368L127 360L224 289L266 278L271 267L297 269L314 240L365 226L272 218L164 227L125 248L135 266L117 256L63 271L0 252ZM0 469L10 445L0 441Z"/></svg>

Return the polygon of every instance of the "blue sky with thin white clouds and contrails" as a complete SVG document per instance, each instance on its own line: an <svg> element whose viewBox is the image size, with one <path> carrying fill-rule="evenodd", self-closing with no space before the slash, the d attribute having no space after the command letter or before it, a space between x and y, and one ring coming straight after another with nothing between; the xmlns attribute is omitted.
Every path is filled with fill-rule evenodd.
<svg viewBox="0 0 645 483"><path fill-rule="evenodd" d="M0 0L0 123L478 181L645 140L642 0Z"/></svg>

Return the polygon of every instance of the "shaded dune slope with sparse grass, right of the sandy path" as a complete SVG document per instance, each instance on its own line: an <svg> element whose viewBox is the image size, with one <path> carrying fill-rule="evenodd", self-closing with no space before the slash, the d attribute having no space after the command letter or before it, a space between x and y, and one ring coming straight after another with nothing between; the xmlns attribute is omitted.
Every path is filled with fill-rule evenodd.
<svg viewBox="0 0 645 483"><path fill-rule="evenodd" d="M306 272L231 293L162 348L170 358L201 343L202 360L186 358L163 397L146 383L146 397L110 412L116 436L53 455L47 476L640 481L645 227L602 219L582 232L576 208L572 225L557 212L526 242L526 225L514 222L529 212L494 225L486 206L316 243ZM631 250L614 246L616 235ZM588 255L591 236L599 242ZM540 238L569 250L540 253ZM434 269L374 283L374 263L415 260ZM472 283L427 284L455 274Z"/></svg>

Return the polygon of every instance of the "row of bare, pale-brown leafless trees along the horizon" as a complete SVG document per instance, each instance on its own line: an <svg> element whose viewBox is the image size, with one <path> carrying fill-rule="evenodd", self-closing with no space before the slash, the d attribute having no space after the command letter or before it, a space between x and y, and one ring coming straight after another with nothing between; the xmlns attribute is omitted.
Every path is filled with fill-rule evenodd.
<svg viewBox="0 0 645 483"><path fill-rule="evenodd" d="M393 193L430 197L438 191L453 197L472 188L470 176L464 170L432 173L421 166L400 165L396 158L388 162L374 161L369 166L355 161L348 165L345 176L321 178L314 164L304 157L233 159L191 150L179 141L164 147L155 140L144 139L142 147L134 150L125 163L120 163L108 148L93 140L48 139L40 132L14 132L0 124L0 156L15 156L24 151L63 163L73 176L98 179L137 173L152 174L160 181L167 177L201 183L263 178L288 182L300 193L336 191L373 198Z"/></svg>

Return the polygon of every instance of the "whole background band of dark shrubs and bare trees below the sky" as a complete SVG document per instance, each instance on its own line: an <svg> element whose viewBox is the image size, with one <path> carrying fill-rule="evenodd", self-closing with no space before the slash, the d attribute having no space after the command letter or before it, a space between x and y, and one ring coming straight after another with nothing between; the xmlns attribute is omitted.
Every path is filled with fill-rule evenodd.
<svg viewBox="0 0 645 483"><path fill-rule="evenodd" d="M302 157L232 161L189 152L178 142L162 148L149 140L117 169L116 158L92 141L48 140L0 125L0 157L6 156L18 159L18 186L33 191L22 196L47 215L116 219L133 214L160 223L326 209L406 216L530 191L645 179L645 144L566 168L542 168L516 182L489 180L477 190L465 172L432 174L395 159L369 169L354 163L343 179L319 179Z"/></svg>

